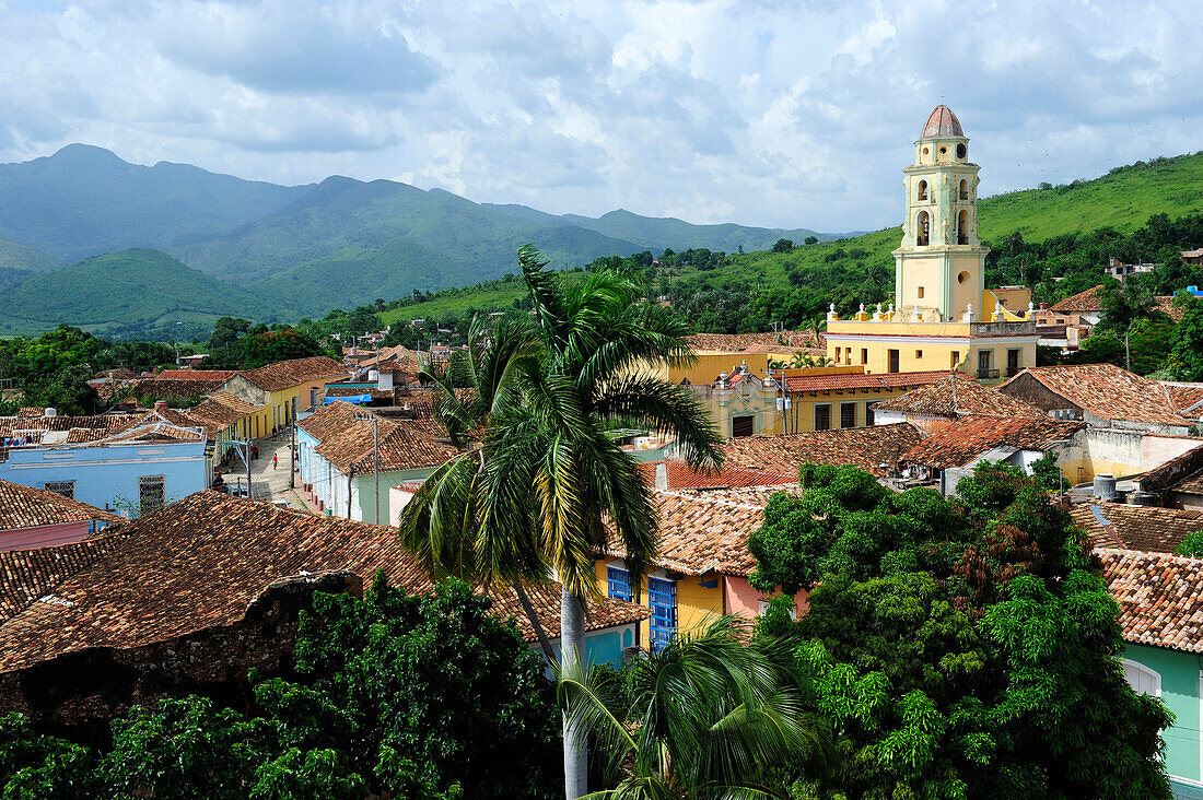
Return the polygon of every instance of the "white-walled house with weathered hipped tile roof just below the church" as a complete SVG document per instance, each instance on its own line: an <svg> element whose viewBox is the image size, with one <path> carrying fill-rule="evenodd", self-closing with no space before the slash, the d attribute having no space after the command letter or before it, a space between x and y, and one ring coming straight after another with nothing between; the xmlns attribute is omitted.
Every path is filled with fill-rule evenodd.
<svg viewBox="0 0 1203 800"><path fill-rule="evenodd" d="M1042 409L983 386L962 372L947 373L935 383L878 403L873 408L873 420L877 425L909 422L928 433L974 414L1045 416Z"/></svg>

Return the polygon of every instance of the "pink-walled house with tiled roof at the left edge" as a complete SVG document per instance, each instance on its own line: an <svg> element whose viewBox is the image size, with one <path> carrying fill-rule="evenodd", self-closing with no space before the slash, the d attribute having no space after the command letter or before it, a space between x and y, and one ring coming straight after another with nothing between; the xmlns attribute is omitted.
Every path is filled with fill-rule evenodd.
<svg viewBox="0 0 1203 800"><path fill-rule="evenodd" d="M79 541L120 521L63 494L0 480L0 551Z"/></svg>

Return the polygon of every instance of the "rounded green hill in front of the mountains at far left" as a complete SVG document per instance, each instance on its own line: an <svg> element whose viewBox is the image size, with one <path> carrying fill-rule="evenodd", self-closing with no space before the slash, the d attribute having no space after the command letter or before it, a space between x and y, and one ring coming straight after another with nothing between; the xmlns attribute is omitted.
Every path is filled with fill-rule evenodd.
<svg viewBox="0 0 1203 800"><path fill-rule="evenodd" d="M96 333L159 338L207 336L224 315L279 314L257 296L191 269L158 250L123 250L29 278L6 291L0 333L69 322Z"/></svg>

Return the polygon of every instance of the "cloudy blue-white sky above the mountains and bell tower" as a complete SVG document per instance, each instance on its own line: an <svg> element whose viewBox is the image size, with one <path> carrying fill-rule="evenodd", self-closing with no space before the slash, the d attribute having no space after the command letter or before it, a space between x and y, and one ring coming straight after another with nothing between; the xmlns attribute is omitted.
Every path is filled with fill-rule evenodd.
<svg viewBox="0 0 1203 800"><path fill-rule="evenodd" d="M873 229L940 102L984 194L1203 149L1199 42L1196 0L0 0L0 161Z"/></svg>

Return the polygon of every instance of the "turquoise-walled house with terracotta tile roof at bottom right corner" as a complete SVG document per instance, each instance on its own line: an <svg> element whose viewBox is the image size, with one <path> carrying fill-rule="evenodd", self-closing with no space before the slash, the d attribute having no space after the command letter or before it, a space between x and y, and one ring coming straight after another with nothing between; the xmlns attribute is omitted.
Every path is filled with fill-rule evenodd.
<svg viewBox="0 0 1203 800"><path fill-rule="evenodd" d="M1203 561L1166 553L1095 551L1120 608L1124 675L1161 698L1174 724L1161 733L1178 800L1203 798Z"/></svg>

